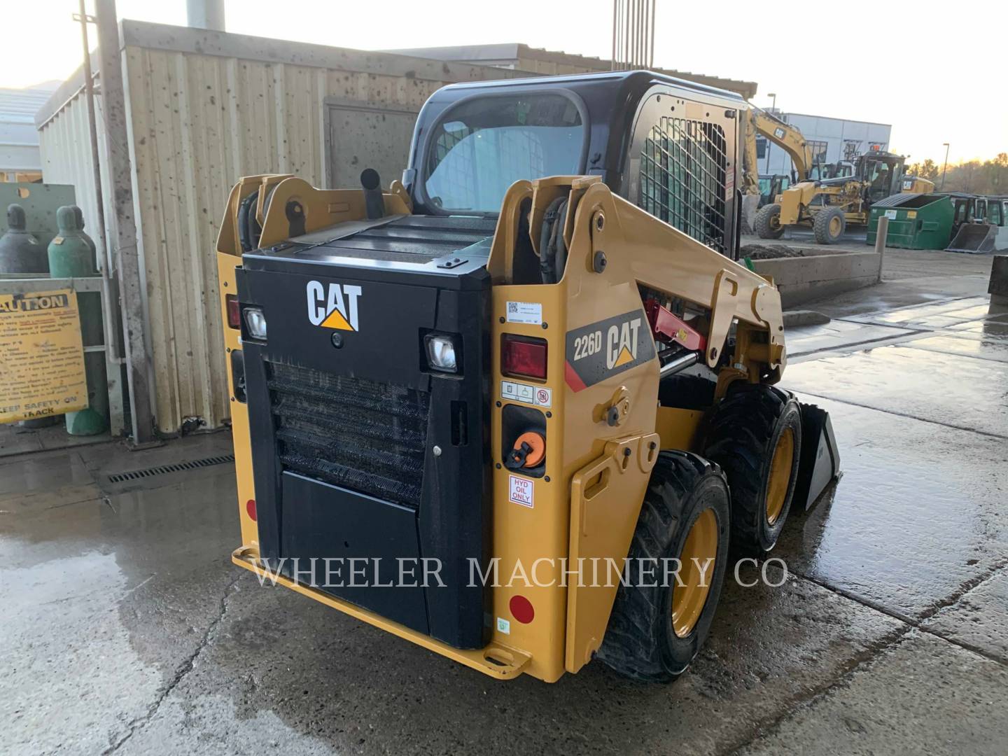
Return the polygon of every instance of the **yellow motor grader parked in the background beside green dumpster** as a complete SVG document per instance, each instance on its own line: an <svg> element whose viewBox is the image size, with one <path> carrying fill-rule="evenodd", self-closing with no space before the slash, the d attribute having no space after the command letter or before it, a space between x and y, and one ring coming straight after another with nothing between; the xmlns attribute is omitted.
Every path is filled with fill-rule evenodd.
<svg viewBox="0 0 1008 756"><path fill-rule="evenodd" d="M873 203L933 191L932 181L905 174L902 155L873 150L858 157L853 176L804 180L784 190L759 210L754 226L762 239L779 239L790 226L810 227L818 244L836 244L848 225L868 225Z"/></svg>

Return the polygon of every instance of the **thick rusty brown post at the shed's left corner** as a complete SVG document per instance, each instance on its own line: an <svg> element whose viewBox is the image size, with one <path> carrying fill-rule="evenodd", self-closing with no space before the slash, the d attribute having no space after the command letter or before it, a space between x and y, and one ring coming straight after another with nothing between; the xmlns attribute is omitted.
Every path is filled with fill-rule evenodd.
<svg viewBox="0 0 1008 756"><path fill-rule="evenodd" d="M123 356L129 387L131 434L135 447L157 443L150 386L151 360L147 355L140 255L133 217L133 168L126 133L126 97L116 0L95 0L98 26L98 75L102 88L102 119L108 156L109 251L119 273L119 306L123 321ZM98 186L101 192L101 186Z"/></svg>

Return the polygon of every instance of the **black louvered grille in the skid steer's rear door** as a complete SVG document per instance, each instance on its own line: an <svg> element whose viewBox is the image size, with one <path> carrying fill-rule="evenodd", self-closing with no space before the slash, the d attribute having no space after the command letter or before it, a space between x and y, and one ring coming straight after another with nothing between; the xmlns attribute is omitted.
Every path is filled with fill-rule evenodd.
<svg viewBox="0 0 1008 756"><path fill-rule="evenodd" d="M279 363L267 381L285 470L419 506L428 393Z"/></svg>

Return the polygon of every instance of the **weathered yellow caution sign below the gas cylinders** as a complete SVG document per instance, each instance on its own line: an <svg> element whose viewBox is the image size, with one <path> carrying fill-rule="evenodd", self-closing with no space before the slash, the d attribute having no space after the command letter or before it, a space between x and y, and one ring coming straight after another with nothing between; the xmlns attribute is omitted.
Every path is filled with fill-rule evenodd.
<svg viewBox="0 0 1008 756"><path fill-rule="evenodd" d="M87 407L77 293L0 294L0 422Z"/></svg>

